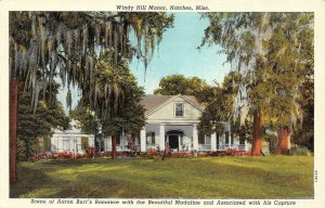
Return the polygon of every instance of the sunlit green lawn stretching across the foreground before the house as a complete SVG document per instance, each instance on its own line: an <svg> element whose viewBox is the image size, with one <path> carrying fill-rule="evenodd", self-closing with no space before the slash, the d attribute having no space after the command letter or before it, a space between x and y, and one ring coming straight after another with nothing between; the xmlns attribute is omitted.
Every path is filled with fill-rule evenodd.
<svg viewBox="0 0 325 208"><path fill-rule="evenodd" d="M21 162L11 197L312 198L313 157Z"/></svg>

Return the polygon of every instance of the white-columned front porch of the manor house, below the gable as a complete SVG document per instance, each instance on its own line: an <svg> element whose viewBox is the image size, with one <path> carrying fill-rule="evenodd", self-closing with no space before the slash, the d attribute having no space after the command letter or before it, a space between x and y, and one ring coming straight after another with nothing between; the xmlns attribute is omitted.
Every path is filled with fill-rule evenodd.
<svg viewBox="0 0 325 208"><path fill-rule="evenodd" d="M226 132L217 135L199 134L197 123L147 123L135 138L138 152L148 152L155 150L161 152L169 147L172 153L176 152L217 152L229 148L238 151L248 151L249 143L240 143L236 138L230 136L230 126L225 123ZM112 151L112 139L104 139L104 151ZM117 151L129 152L129 139L121 134L117 139Z"/></svg>

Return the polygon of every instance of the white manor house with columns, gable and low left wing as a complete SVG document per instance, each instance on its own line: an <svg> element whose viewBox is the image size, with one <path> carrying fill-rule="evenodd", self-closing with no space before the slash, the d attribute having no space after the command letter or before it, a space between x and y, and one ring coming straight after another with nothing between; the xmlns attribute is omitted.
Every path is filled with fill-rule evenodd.
<svg viewBox="0 0 325 208"><path fill-rule="evenodd" d="M145 107L147 118L145 127L136 136L135 144L139 151L150 148L164 151L169 145L172 152L214 152L227 148L249 150L245 141L231 139L230 125L224 122L225 133L218 136L213 134L199 134L197 126L204 107L194 96L187 95L145 95L141 101ZM104 139L100 145L102 152L112 151L110 136ZM94 135L84 134L73 128L68 131L55 130L51 138L51 151L73 151L83 153L86 146L94 146ZM117 151L128 152L128 136L121 134L117 139Z"/></svg>

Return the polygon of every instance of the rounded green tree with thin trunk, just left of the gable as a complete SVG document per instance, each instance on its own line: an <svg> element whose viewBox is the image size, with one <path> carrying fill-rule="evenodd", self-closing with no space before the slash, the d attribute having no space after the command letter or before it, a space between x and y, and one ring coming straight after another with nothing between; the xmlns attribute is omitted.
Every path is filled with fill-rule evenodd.
<svg viewBox="0 0 325 208"><path fill-rule="evenodd" d="M112 158L116 158L116 140L121 133L139 134L145 125L144 107L140 104L143 89L138 87L135 77L131 74L128 63L121 58L114 67L114 53L101 53L94 68L94 82L96 103L91 110L87 102L81 99L70 116L77 119L81 129L88 133L99 133L102 129L103 136L112 136ZM90 84L89 82L84 84ZM115 89L109 89L109 84ZM115 92L115 93L113 93ZM108 102L112 101L112 102ZM106 103L110 110L106 112Z"/></svg>

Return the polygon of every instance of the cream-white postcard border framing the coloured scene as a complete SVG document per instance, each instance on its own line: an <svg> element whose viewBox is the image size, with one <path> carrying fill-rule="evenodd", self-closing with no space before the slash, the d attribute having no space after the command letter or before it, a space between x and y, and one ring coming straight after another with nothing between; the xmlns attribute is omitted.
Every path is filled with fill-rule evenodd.
<svg viewBox="0 0 325 208"><path fill-rule="evenodd" d="M42 207L42 205L31 205L30 199L10 199L9 198L9 11L114 11L117 4L136 5L136 4L155 4L155 5L208 5L209 11L227 11L227 12L315 12L315 170L318 171L318 182L314 183L314 199L296 200L298 206L289 207L325 207L325 136L324 136L324 103L325 103L325 0L173 0L155 1L155 0L0 0L0 208L2 207ZM67 207L64 205L46 205L47 207ZM70 206L70 205L68 205ZM81 205L78 207L99 207L99 205ZM122 207L103 205L100 207ZM135 206L138 207L138 206ZM152 207L152 206L143 206ZM165 207L165 206L157 206ZM196 206L197 207L197 206ZM212 207L212 206L210 206ZM216 207L216 205L214 205ZM220 206L217 206L220 207ZM242 206L226 206L242 207ZM249 206L245 206L249 207ZM260 207L260 206L253 206ZM273 207L273 206L268 206ZM280 206L275 206L280 207Z"/></svg>

